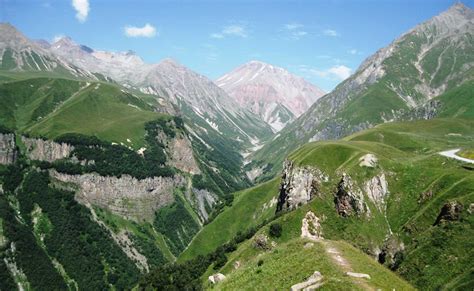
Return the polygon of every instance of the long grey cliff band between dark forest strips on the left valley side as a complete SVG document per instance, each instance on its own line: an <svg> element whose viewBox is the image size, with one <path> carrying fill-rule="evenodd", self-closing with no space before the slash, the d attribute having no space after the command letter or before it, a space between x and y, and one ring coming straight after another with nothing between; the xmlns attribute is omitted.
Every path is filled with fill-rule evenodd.
<svg viewBox="0 0 474 291"><path fill-rule="evenodd" d="M54 170L50 174L59 181L76 184L78 202L99 206L135 221L152 221L156 210L174 202L174 189L186 184L182 176L138 180L128 175L121 178L67 175Z"/></svg>

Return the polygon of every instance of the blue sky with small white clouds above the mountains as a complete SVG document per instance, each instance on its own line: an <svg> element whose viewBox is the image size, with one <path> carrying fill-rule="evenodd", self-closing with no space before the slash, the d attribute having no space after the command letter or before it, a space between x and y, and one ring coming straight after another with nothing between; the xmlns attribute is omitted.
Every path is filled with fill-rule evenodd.
<svg viewBox="0 0 474 291"><path fill-rule="evenodd" d="M325 91L453 0L0 0L0 22L32 39L173 58L211 79L251 60ZM471 8L474 0L463 3Z"/></svg>

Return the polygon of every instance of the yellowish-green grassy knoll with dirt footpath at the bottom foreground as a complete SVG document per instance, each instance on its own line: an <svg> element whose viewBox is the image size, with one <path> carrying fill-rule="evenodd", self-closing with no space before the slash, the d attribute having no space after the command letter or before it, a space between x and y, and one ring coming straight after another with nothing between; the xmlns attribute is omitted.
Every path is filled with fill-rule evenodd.
<svg viewBox="0 0 474 291"><path fill-rule="evenodd" d="M364 290L360 281L344 274L340 266L329 257L320 242L304 247L309 241L293 239L279 244L271 251L256 250L252 244L244 244L236 251L240 267L235 270L226 266L227 278L217 284L216 290L288 290L292 285L305 281L315 271L323 275L322 290ZM356 272L368 273L372 277L365 281L373 288L383 290L414 290L396 274L385 269L366 254L344 242L337 245ZM242 250L244 249L244 250ZM258 262L263 264L258 266ZM235 260L232 260L232 264ZM205 284L207 288L213 286Z"/></svg>

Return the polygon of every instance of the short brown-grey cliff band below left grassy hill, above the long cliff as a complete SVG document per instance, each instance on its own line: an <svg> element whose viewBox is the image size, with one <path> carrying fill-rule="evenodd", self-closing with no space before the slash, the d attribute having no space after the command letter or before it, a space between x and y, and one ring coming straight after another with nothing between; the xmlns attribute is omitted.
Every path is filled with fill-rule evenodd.
<svg viewBox="0 0 474 291"><path fill-rule="evenodd" d="M26 154L31 160L54 162L69 157L74 150L72 145L56 143L51 140L21 137L26 147Z"/></svg>

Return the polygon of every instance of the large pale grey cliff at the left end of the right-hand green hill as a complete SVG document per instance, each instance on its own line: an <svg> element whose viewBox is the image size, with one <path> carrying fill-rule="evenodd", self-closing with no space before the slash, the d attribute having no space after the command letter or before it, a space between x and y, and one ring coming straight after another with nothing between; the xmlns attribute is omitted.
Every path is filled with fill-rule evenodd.
<svg viewBox="0 0 474 291"><path fill-rule="evenodd" d="M295 167L292 161L285 161L277 212L290 211L308 203L318 195L320 184L327 180L327 176L319 169Z"/></svg>

